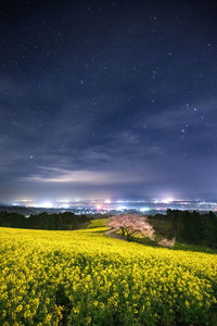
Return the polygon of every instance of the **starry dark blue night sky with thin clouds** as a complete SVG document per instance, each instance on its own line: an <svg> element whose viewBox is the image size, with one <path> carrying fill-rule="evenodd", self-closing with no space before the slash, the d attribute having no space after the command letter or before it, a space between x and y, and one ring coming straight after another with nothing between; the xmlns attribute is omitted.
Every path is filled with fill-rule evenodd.
<svg viewBox="0 0 217 326"><path fill-rule="evenodd" d="M1 1L0 202L217 199L217 1Z"/></svg>

